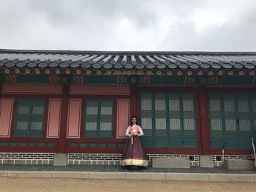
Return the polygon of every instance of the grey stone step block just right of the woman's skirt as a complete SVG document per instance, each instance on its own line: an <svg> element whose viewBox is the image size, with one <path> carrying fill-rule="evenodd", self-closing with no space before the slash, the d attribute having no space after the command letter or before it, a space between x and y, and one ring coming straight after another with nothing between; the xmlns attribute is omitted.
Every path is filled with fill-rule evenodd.
<svg viewBox="0 0 256 192"><path fill-rule="evenodd" d="M188 158L152 158L153 168L190 168Z"/></svg>

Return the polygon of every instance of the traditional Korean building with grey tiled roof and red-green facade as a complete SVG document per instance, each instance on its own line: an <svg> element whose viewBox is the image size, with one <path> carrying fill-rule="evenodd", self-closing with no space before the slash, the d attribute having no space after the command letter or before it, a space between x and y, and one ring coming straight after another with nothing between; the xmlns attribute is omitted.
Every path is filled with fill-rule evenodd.
<svg viewBox="0 0 256 192"><path fill-rule="evenodd" d="M0 50L0 164L120 164L133 115L149 158L252 158L255 72L256 53Z"/></svg>

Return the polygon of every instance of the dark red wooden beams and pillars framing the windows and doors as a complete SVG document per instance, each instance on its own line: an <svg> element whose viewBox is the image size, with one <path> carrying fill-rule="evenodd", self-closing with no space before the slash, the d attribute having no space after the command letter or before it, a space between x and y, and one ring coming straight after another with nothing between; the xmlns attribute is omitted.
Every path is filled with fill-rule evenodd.
<svg viewBox="0 0 256 192"><path fill-rule="evenodd" d="M53 152L53 153L121 153L122 147L70 147L71 142L75 143L116 143L124 144L126 139L117 139L117 99L129 99L130 101L130 116L136 115L140 117L140 91L179 91L179 92L193 92L196 96L196 114L197 114L197 138L198 138L198 147L196 149L187 149L187 148L147 148L147 153L167 153L167 154L204 154L204 155L220 155L222 149L211 149L211 136L210 129L208 125L208 93L212 91L227 91L227 92L255 92L256 88L146 88L146 87L130 87L129 95L70 95L69 86L64 85L62 94L10 94L10 93L1 93L1 98L13 98L14 99L14 110L12 112L12 125L10 131L10 138L1 138L1 142L42 142L49 143L54 142L55 147L20 147L20 146L1 146L0 152ZM15 123L15 101L18 98L43 98L47 99L62 99L61 106L61 125L59 138L47 138L46 130L48 125L48 105L45 109L45 131L43 138L15 138L13 137L14 133L14 123ZM69 99L82 99L82 108L81 108L81 118L80 118L80 138L68 138L67 139L67 119L68 119L68 101ZM86 99L114 99L115 100L115 120L114 123L114 132L113 139L83 139L83 117L84 117L84 104ZM128 125L127 125L128 126ZM225 150L227 155L250 155L252 150Z"/></svg>

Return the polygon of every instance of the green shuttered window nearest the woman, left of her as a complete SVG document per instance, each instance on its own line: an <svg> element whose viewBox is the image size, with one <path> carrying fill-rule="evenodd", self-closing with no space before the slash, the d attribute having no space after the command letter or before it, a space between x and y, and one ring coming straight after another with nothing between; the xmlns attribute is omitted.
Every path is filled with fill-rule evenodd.
<svg viewBox="0 0 256 192"><path fill-rule="evenodd" d="M87 138L111 138L113 135L113 100L86 100L85 133Z"/></svg>

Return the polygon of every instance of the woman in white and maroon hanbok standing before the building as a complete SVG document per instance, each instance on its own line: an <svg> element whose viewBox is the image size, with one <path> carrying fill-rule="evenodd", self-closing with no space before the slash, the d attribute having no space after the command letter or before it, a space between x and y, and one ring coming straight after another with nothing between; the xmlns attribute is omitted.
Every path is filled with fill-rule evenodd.
<svg viewBox="0 0 256 192"><path fill-rule="evenodd" d="M137 118L131 118L131 125L125 133L129 138L124 145L122 166L148 166L148 158L144 152L140 137L143 136L143 131L137 124Z"/></svg>

